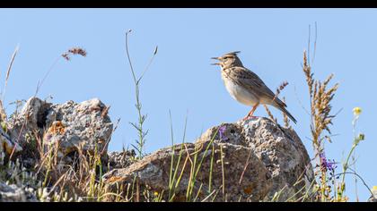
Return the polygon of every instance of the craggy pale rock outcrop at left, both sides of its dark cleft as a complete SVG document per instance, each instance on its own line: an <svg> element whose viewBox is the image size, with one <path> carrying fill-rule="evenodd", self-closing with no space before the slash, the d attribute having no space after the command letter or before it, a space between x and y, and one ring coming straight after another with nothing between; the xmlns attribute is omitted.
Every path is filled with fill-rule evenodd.
<svg viewBox="0 0 377 211"><path fill-rule="evenodd" d="M107 113L108 107L98 98L52 105L31 97L9 121L10 139L20 143L24 157L39 155L35 137L43 139L45 147L58 143L58 157L71 155L78 148L107 155L113 128Z"/></svg>

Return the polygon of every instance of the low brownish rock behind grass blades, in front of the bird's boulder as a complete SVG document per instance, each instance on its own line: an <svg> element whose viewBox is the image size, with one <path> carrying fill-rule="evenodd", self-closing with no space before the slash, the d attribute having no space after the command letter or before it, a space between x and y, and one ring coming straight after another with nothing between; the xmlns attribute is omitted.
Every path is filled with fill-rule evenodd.
<svg viewBox="0 0 377 211"><path fill-rule="evenodd" d="M206 147L209 145L209 150L206 151ZM175 188L174 201L185 200L185 195L189 187L190 181L190 169L195 167L194 172L197 172L195 183L192 187L191 199L195 198L198 191L198 201L204 200L207 195L212 193L213 196L217 195L215 201L221 201L225 197L222 191L222 185L224 182L224 187L226 187L227 200L237 201L239 198L241 200L259 200L267 194L269 186L272 184L269 173L267 173L264 165L259 161L259 159L252 155L250 156L250 167L245 171L245 176L239 184L241 174L243 172L243 165L241 162L236 162L232 164L232 160L241 160L246 162L246 157L249 154L248 148L243 148L241 146L227 146L227 144L209 144L197 143L197 144L184 144L184 147L180 149L181 145L175 145L175 149L172 151L171 148L163 148L159 151L153 153L150 156L145 156L140 162L134 165L130 165L127 168L115 169L106 173L103 179L106 183L110 184L110 188L115 187L117 183L133 183L134 179L139 180L138 182L141 186L148 186L153 191L165 193L169 192L169 178L171 171L171 153L174 153L174 165L177 165L180 152L181 159L180 165L175 168L176 177L178 178L180 173L182 177L180 182L172 182ZM223 148L224 147L224 148ZM223 148L223 149L220 149ZM215 151L214 151L215 149ZM221 150L223 154L226 155L224 158L224 181L223 181L223 168L221 164ZM196 153L195 153L196 152ZM209 189L209 178L210 178L210 166L211 166L211 154L214 152L214 159L212 160L212 189ZM190 155L190 156L188 156ZM195 155L197 155L196 166L190 164L189 160L194 160ZM199 161L204 157L203 163L199 166ZM220 162L219 162L220 161ZM186 165L185 165L186 164ZM232 165L231 165L232 164ZM177 181L177 178L175 181ZM126 186L127 187L127 186ZM207 192L209 191L209 193ZM169 200L165 194L164 199ZM212 198L207 198L207 200L212 200Z"/></svg>

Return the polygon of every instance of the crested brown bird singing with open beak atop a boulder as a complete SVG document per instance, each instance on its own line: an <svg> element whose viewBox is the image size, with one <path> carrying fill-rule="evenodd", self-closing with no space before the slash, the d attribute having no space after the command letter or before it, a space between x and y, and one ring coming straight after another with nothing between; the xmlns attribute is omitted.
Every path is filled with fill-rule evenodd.
<svg viewBox="0 0 377 211"><path fill-rule="evenodd" d="M267 87L256 73L243 66L238 57L240 53L240 51L235 51L220 57L212 57L211 59L218 61L218 63L212 64L221 66L221 77L229 94L241 104L252 106L243 121L254 117L255 110L262 104L276 107L296 123L294 116L286 110L285 103L276 97L274 92Z"/></svg>

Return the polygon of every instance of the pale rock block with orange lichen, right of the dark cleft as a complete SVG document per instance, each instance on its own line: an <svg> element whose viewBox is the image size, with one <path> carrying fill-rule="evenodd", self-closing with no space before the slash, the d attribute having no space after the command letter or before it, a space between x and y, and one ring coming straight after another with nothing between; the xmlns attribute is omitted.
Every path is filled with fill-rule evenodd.
<svg viewBox="0 0 377 211"><path fill-rule="evenodd" d="M58 142L63 156L78 148L90 153L97 149L106 155L113 128L107 109L98 98L80 104L68 101L63 105L51 105L46 116L49 126L44 142Z"/></svg>

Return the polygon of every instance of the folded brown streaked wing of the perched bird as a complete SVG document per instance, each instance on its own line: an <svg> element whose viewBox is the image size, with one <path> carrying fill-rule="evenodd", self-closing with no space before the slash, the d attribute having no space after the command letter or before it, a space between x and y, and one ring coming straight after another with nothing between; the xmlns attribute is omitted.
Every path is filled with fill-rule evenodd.
<svg viewBox="0 0 377 211"><path fill-rule="evenodd" d="M228 76L235 81L239 81L241 86L247 87L250 91L259 97L265 97L272 100L275 93L267 87L267 85L259 78L259 76L244 67L232 67L228 72ZM276 103L285 106L280 99L276 97Z"/></svg>

